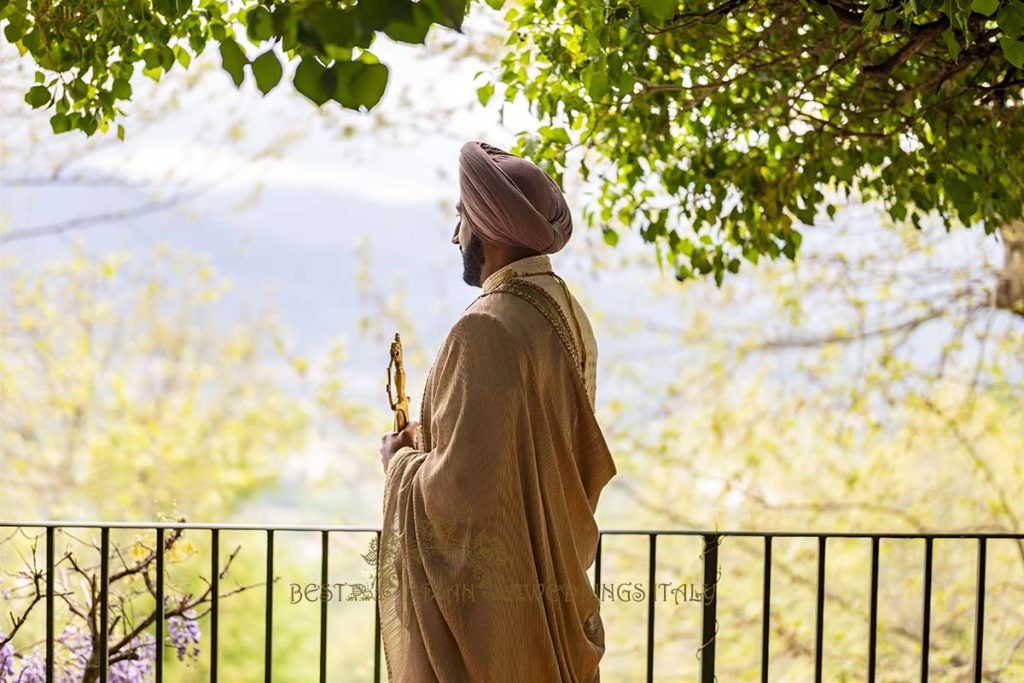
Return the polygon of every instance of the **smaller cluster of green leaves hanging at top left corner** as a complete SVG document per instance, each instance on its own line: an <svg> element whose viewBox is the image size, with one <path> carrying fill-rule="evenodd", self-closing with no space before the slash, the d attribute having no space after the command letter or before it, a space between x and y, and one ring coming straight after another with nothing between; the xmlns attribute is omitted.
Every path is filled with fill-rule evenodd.
<svg viewBox="0 0 1024 683"><path fill-rule="evenodd" d="M52 108L53 132L86 135L122 117L136 70L159 81L211 43L237 86L248 71L265 94L282 58L297 59L295 88L316 104L372 109L388 80L376 36L422 43L435 24L461 30L465 11L466 0L0 0L3 36L39 67L26 101Z"/></svg>

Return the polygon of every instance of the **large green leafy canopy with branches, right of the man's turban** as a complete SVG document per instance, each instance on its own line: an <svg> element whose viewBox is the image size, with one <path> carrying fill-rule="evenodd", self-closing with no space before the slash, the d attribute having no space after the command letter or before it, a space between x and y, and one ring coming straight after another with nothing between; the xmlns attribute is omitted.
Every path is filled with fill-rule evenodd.
<svg viewBox="0 0 1024 683"><path fill-rule="evenodd" d="M515 151L560 175L582 146L587 222L638 229L680 280L795 258L849 194L918 226L1024 213L1021 0L524 0L506 20L504 97L545 124Z"/></svg>

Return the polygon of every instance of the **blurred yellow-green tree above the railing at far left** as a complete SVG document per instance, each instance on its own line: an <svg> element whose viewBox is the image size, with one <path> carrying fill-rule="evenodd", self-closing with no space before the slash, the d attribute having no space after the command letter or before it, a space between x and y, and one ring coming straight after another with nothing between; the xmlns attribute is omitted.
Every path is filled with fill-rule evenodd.
<svg viewBox="0 0 1024 683"><path fill-rule="evenodd" d="M225 284L203 259L158 247L135 262L2 265L4 509L208 518L303 442L305 409L268 362L276 327L220 324Z"/></svg>

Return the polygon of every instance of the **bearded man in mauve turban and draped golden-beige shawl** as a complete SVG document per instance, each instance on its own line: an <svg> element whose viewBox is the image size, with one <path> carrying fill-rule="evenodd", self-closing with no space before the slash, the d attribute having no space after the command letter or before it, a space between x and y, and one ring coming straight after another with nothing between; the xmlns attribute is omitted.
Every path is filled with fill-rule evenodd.
<svg viewBox="0 0 1024 683"><path fill-rule="evenodd" d="M551 269L572 221L558 185L463 145L463 280L482 293L437 352L420 421L385 434L378 596L396 683L595 683L587 577L615 465L594 416L597 349Z"/></svg>

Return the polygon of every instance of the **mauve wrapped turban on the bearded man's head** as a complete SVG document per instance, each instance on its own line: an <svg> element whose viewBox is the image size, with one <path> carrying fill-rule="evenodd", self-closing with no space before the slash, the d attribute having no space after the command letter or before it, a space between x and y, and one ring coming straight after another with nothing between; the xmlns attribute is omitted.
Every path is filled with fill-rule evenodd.
<svg viewBox="0 0 1024 683"><path fill-rule="evenodd" d="M565 197L540 167L486 142L459 153L462 216L480 239L553 254L572 236Z"/></svg>

